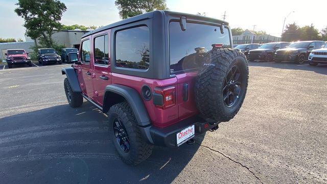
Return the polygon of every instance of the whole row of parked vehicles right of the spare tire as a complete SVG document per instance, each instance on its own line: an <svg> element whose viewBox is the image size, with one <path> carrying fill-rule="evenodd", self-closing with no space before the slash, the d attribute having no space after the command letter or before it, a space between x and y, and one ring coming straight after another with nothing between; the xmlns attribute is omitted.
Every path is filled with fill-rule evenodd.
<svg viewBox="0 0 327 184"><path fill-rule="evenodd" d="M249 61L294 61L302 64L306 60L309 60L311 65L326 62L323 59L325 58L324 53L326 49L322 48L327 48L327 43L324 41L272 42L263 44L258 49L251 50L251 48L257 45L259 44L240 44L235 48L241 50ZM311 54L312 52L315 54Z"/></svg>

